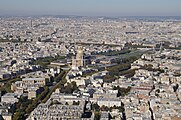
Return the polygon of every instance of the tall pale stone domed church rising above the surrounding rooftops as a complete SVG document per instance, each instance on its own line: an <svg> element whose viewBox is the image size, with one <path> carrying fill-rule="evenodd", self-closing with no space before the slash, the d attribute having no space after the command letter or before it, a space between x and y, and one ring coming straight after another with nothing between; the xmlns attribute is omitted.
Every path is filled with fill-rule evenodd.
<svg viewBox="0 0 181 120"><path fill-rule="evenodd" d="M77 48L77 54L72 58L72 69L78 69L84 65L84 52L82 47Z"/></svg>

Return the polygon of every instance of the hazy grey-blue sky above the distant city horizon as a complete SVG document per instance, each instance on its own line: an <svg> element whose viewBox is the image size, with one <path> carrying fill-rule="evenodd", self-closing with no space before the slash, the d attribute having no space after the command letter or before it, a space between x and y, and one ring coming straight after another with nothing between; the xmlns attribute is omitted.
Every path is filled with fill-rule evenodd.
<svg viewBox="0 0 181 120"><path fill-rule="evenodd" d="M0 15L181 16L181 0L0 0Z"/></svg>

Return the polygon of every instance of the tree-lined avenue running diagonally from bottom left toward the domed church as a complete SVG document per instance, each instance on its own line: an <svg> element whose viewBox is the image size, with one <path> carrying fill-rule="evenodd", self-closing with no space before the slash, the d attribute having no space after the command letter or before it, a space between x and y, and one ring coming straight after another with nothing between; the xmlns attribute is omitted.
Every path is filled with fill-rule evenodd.
<svg viewBox="0 0 181 120"><path fill-rule="evenodd" d="M41 102L45 103L49 99L50 95L55 91L55 89L59 87L59 84L64 85L66 83L65 75L66 71L61 71L61 73L53 80L57 81L58 83L53 86L51 90L48 88L48 86L45 86L43 92L33 100L29 100L27 97L21 96L19 102L15 105L16 111L13 115L13 120L26 119L27 115L29 115L38 104Z"/></svg>

